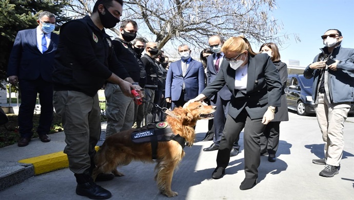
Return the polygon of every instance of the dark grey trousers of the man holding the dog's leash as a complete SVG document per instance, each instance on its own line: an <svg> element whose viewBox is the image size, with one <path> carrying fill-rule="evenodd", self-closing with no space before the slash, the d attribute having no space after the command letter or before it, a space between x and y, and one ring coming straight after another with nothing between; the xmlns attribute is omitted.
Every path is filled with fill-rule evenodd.
<svg viewBox="0 0 354 200"><path fill-rule="evenodd" d="M99 97L76 91L54 91L53 105L62 117L69 169L82 174L91 166L101 134Z"/></svg>

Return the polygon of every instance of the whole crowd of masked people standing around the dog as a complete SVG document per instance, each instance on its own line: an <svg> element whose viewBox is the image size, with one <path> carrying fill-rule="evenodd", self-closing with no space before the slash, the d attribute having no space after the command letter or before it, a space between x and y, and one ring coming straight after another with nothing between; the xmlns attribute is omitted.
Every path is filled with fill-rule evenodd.
<svg viewBox="0 0 354 200"><path fill-rule="evenodd" d="M201 62L191 57L188 44L181 44L176 48L181 59L169 63L158 43L136 37L138 26L131 19L121 23L117 38L110 38L105 28L115 27L122 12L122 0L99 0L90 16L65 23L60 35L52 32L55 16L47 11L38 14L38 27L17 33L8 76L11 84L19 84L22 96L18 146L31 141L39 93L41 141L50 142L54 106L65 129L64 152L76 177L76 194L106 199L111 193L91 178L101 134L98 90L105 89L106 137L134 123L140 128L163 121L166 115L159 107L173 110L205 101L217 106L203 139L213 141L203 151L218 150L212 178L222 178L230 156L238 155L243 130L245 179L240 189L254 187L260 156L276 162L280 123L289 119L284 93L287 66L277 45L265 43L257 53L244 36L212 35L209 48L200 53ZM332 177L339 173L344 121L354 102L354 49L341 47L339 30L330 29L321 37L325 47L304 75L314 77L312 98L325 142L325 156L312 162L326 165L320 175ZM135 104L131 90L145 102ZM96 182L113 178L113 174L99 174Z"/></svg>

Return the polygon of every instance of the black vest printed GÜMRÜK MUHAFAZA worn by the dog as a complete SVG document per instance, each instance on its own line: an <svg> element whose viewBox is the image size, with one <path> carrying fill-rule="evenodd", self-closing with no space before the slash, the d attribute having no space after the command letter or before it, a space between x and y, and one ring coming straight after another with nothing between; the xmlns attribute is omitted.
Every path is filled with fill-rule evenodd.
<svg viewBox="0 0 354 200"><path fill-rule="evenodd" d="M152 159L158 157L158 142L174 140L182 146L182 149L186 146L185 138L180 134L173 134L167 122L137 128L131 133L131 140L133 143L151 143Z"/></svg>

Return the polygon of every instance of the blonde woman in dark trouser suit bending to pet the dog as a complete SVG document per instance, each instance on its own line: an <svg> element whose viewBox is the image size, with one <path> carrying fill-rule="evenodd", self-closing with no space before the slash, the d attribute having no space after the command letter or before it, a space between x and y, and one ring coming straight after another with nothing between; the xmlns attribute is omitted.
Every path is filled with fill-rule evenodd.
<svg viewBox="0 0 354 200"><path fill-rule="evenodd" d="M240 189L247 190L257 184L260 136L266 124L273 119L276 107L280 106L282 86L277 68L270 57L254 53L245 37L227 39L221 50L229 64L221 67L214 81L188 103L210 98L224 85L228 87L232 96L218 151L217 168L212 178L218 179L225 174L232 144L245 128L246 176Z"/></svg>

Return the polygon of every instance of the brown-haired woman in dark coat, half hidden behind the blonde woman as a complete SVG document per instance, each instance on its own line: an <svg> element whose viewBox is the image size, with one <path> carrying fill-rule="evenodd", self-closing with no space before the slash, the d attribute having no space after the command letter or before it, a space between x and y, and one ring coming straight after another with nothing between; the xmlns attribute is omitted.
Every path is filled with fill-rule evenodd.
<svg viewBox="0 0 354 200"><path fill-rule="evenodd" d="M286 80L288 79L288 67L280 61L280 53L276 44L265 43L261 46L260 52L270 56L271 61L276 66L282 82L281 107L278 107L278 112L274 115L274 119L269 122L261 135L261 155L268 153L268 161L276 162L276 153L279 146L280 122L289 121L288 105L284 89Z"/></svg>

